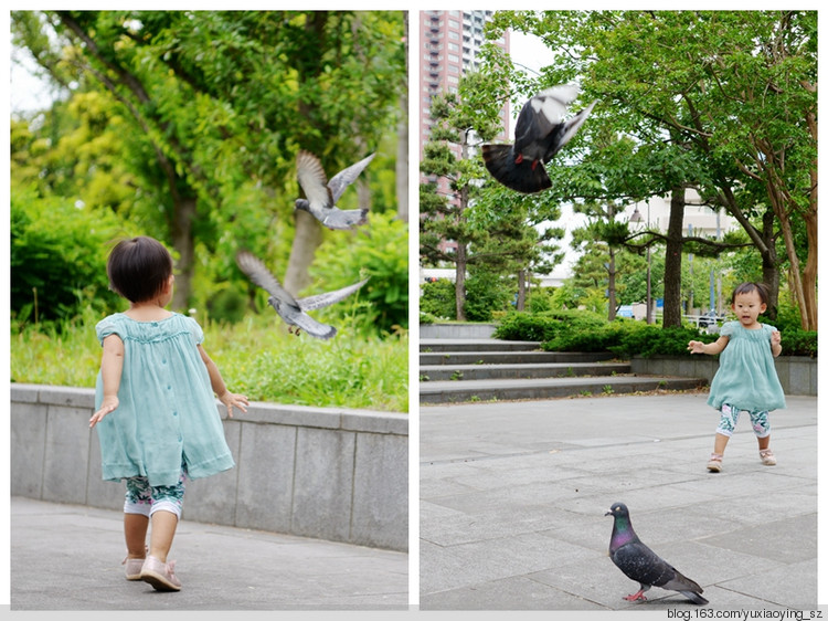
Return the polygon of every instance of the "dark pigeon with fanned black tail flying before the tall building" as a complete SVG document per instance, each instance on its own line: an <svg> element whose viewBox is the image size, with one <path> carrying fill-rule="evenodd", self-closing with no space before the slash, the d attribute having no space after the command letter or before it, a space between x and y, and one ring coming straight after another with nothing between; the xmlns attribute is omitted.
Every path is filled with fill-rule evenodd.
<svg viewBox="0 0 828 621"><path fill-rule="evenodd" d="M531 194L552 186L544 165L577 133L595 102L564 122L577 86L546 88L529 99L518 115L513 145L484 145L482 157L495 179L507 188Z"/></svg>

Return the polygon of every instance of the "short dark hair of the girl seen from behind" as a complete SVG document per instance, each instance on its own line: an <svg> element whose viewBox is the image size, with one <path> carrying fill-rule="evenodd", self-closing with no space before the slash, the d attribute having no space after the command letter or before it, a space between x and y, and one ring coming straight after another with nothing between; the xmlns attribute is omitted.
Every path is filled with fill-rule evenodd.
<svg viewBox="0 0 828 621"><path fill-rule="evenodd" d="M146 302L161 293L172 274L172 256L152 238L119 241L106 263L109 287L129 302Z"/></svg>

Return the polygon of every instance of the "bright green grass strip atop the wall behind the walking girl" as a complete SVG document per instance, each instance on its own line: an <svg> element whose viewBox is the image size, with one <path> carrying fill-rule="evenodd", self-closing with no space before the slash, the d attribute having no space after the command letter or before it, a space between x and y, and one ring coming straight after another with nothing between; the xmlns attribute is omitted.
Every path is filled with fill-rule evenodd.
<svg viewBox="0 0 828 621"><path fill-rule="evenodd" d="M28 326L10 337L11 381L95 386L100 345L87 318L63 330ZM204 349L227 388L252 401L321 408L408 411L407 333L384 339L338 326L331 340L287 334L273 317L235 325L205 323Z"/></svg>

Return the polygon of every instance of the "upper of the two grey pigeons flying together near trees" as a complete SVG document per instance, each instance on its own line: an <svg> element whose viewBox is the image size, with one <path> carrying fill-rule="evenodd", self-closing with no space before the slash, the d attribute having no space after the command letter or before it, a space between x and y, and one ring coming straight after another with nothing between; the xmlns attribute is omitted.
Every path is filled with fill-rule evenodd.
<svg viewBox="0 0 828 621"><path fill-rule="evenodd" d="M308 151L296 156L296 176L307 199L296 199L296 209L311 213L329 229L352 229L368 222L368 209L341 210L337 201L376 154L339 171L328 181L319 159Z"/></svg>

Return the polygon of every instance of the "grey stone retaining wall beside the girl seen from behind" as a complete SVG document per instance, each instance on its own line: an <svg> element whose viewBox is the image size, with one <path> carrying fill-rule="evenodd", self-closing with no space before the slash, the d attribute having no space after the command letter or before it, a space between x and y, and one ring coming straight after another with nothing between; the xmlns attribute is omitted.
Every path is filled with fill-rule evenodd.
<svg viewBox="0 0 828 621"><path fill-rule="evenodd" d="M120 509L89 430L94 390L11 385L11 494ZM236 467L188 483L183 519L407 551L408 417L251 403L226 418Z"/></svg>

